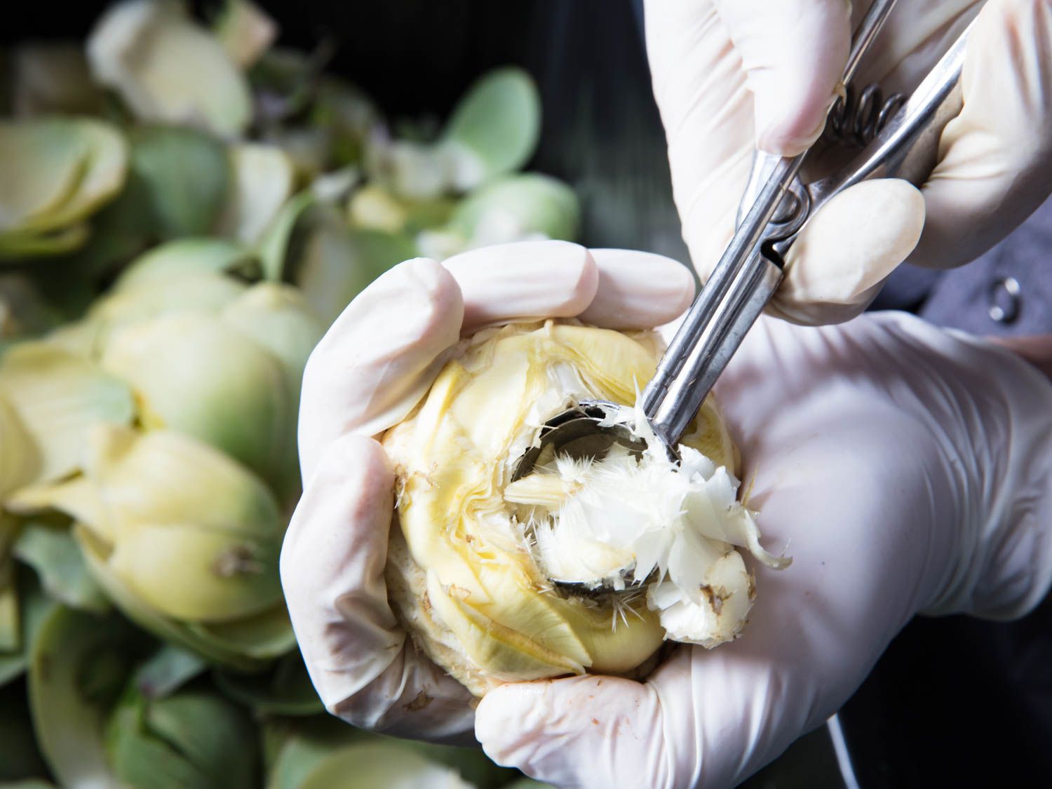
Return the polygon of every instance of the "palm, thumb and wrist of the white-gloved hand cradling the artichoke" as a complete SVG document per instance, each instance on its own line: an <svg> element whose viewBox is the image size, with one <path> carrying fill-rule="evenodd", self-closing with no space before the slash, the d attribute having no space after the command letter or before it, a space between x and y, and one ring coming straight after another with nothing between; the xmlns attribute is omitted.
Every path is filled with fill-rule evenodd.
<svg viewBox="0 0 1052 789"><path fill-rule="evenodd" d="M680 646L645 683L490 691L476 734L497 762L560 787L732 786L836 711L915 613L1009 619L1045 595L1052 386L1010 351L902 313L762 318L716 397L764 544L792 565L751 563L743 636Z"/></svg>

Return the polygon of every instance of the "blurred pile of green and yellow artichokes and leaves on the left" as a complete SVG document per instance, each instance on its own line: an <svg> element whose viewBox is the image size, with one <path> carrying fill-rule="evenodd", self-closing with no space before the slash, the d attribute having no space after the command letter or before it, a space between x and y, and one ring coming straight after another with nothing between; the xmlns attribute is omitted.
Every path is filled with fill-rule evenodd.
<svg viewBox="0 0 1052 789"><path fill-rule="evenodd" d="M526 782L329 719L278 554L328 324L403 259L571 239L576 198L520 173L540 132L523 72L393 135L277 37L248 0L214 19L128 0L84 45L4 61L0 782Z"/></svg>

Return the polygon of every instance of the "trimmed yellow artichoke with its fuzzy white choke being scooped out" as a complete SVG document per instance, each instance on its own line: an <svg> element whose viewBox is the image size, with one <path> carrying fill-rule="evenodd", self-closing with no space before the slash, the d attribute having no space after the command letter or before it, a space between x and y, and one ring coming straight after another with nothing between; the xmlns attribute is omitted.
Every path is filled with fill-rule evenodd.
<svg viewBox="0 0 1052 789"><path fill-rule="evenodd" d="M417 644L473 693L585 671L631 675L665 639L714 646L734 638L752 596L734 544L780 562L758 547L751 513L734 498L735 450L711 398L684 439L683 449L692 454L682 473L667 458L655 470L649 451L639 460L611 452L609 463L638 467L626 471L622 487L662 499L654 509L670 509L663 503L667 491L640 480L653 486L676 478L673 487L694 497L671 507L683 523L656 524L663 534L682 538L665 539L663 553L654 552L652 540L649 549L604 544L599 532L567 535L558 528L561 518L569 523L567 506L592 488L582 471L600 471L606 460L557 458L511 483L546 420L582 400L633 404L660 352L652 332L627 335L574 321L486 329L457 348L413 413L384 436L398 484L389 596ZM616 473L611 467L601 477L609 481ZM725 499L729 491L729 501L699 499L699 490L713 485ZM638 509L626 495L610 498L600 520L611 514L609 507ZM703 534L694 521L704 522ZM654 529L654 523L644 525ZM563 565L595 561L630 569L649 563L651 570L646 584L616 594L599 588L605 570L590 590L554 584L561 550ZM694 558L700 569L685 574L682 565ZM693 588L684 591L684 579ZM695 636L699 628L704 632Z"/></svg>

